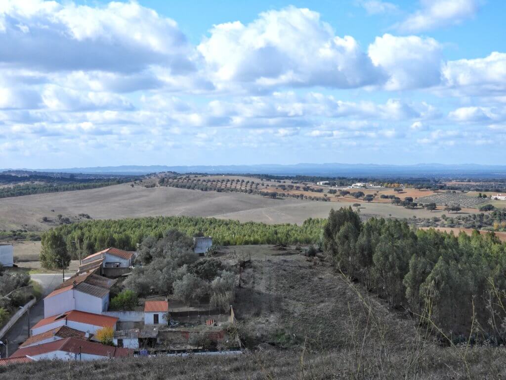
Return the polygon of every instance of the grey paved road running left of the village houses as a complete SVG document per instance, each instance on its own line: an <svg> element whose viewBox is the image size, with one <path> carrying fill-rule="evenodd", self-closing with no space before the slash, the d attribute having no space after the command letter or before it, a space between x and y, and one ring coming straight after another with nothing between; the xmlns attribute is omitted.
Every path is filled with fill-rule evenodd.
<svg viewBox="0 0 506 380"><path fill-rule="evenodd" d="M71 276L72 274L69 275ZM68 277L69 276L67 276L67 273L65 273L65 278L67 279ZM42 298L51 293L58 285L62 283L62 275L61 273L35 274L31 275L31 279L37 281L43 289L43 296L30 309L30 326L33 326L35 323L44 318L44 301ZM23 343L26 338L28 338L28 336L28 313L26 313L2 338L4 343L6 339L9 342L9 355L14 354L14 352L18 349L18 346ZM0 353L2 354L3 358L6 357L5 346L0 346Z"/></svg>

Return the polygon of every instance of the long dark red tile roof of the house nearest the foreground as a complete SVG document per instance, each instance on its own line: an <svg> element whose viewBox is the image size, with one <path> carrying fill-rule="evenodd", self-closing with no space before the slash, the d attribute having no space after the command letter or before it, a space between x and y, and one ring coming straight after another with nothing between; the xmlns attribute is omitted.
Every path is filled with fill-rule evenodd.
<svg viewBox="0 0 506 380"><path fill-rule="evenodd" d="M37 356L48 354L54 351L64 351L72 354L90 354L104 357L122 357L129 356L134 353L134 350L125 348L116 348L113 346L106 346L100 343L93 343L88 340L65 338L61 340L52 341L43 345L20 348L16 351L11 358L19 358L24 356Z"/></svg>

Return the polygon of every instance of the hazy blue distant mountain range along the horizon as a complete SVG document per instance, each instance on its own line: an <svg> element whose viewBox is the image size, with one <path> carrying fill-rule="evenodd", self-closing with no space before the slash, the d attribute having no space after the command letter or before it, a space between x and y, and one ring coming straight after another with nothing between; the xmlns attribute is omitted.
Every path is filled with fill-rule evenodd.
<svg viewBox="0 0 506 380"><path fill-rule="evenodd" d="M13 170L4 169L1 171ZM215 166L102 166L65 169L17 169L38 172L142 175L157 172L209 173L209 174L271 174L271 175L312 175L322 177L455 177L455 178L504 178L506 165L478 164L295 164L295 165L215 165Z"/></svg>

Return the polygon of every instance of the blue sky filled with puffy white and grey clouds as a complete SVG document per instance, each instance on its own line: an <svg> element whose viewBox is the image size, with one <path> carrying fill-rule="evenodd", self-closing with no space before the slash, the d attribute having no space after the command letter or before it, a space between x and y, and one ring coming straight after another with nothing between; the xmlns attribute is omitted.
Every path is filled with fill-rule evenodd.
<svg viewBox="0 0 506 380"><path fill-rule="evenodd" d="M2 0L0 168L502 164L505 13Z"/></svg>

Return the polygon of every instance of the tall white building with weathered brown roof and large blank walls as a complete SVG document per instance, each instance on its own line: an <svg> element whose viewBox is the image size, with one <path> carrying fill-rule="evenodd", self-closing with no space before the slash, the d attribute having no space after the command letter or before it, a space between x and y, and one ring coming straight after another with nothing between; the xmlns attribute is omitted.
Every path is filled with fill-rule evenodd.
<svg viewBox="0 0 506 380"><path fill-rule="evenodd" d="M109 307L114 282L92 272L72 276L44 298L44 317L71 310L101 314Z"/></svg>

